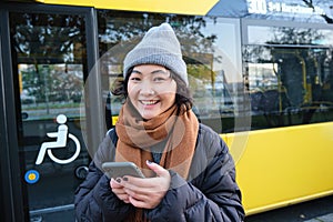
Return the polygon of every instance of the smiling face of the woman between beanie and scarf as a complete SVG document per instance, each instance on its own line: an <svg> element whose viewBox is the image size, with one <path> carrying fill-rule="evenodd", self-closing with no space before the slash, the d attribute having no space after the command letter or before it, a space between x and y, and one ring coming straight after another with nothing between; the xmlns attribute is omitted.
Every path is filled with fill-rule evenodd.
<svg viewBox="0 0 333 222"><path fill-rule="evenodd" d="M144 120L150 120L174 104L176 83L170 70L158 64L133 68L128 82L128 95Z"/></svg>

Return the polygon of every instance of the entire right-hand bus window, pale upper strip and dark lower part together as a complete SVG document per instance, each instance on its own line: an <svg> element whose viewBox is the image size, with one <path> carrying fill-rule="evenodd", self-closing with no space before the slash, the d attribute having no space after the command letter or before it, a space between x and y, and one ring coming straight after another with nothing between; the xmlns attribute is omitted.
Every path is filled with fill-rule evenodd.
<svg viewBox="0 0 333 222"><path fill-rule="evenodd" d="M254 129L333 120L332 34L249 27L244 61Z"/></svg>

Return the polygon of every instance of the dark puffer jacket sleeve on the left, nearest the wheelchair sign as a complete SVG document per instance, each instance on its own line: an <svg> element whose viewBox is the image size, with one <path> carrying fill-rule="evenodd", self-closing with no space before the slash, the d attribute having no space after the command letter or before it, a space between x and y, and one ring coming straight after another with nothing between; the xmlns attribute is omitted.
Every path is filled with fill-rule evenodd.
<svg viewBox="0 0 333 222"><path fill-rule="evenodd" d="M111 191L110 179L100 170L100 163L108 153L110 138L101 143L94 160L89 165L85 180L75 191L74 205L78 222L123 221L132 214L133 206L120 201Z"/></svg>

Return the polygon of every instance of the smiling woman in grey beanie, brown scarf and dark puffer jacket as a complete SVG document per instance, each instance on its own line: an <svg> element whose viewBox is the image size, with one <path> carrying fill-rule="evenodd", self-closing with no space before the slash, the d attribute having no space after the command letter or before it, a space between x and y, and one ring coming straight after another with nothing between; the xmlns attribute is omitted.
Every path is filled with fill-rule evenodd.
<svg viewBox="0 0 333 222"><path fill-rule="evenodd" d="M218 133L192 109L186 65L168 23L150 29L124 59L125 98L75 193L78 221L244 219L235 169ZM145 178L109 179L107 161L134 162Z"/></svg>

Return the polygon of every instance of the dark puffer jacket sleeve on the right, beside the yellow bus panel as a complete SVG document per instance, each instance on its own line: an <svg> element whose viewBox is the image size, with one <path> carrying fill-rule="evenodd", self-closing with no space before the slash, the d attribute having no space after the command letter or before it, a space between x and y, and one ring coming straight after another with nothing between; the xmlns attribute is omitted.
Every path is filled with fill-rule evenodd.
<svg viewBox="0 0 333 222"><path fill-rule="evenodd" d="M241 222L244 210L235 183L234 162L221 138L205 170L191 182L170 171L171 189L158 208L148 212L151 221ZM211 148L211 147L210 147ZM209 148L209 149L210 149Z"/></svg>

